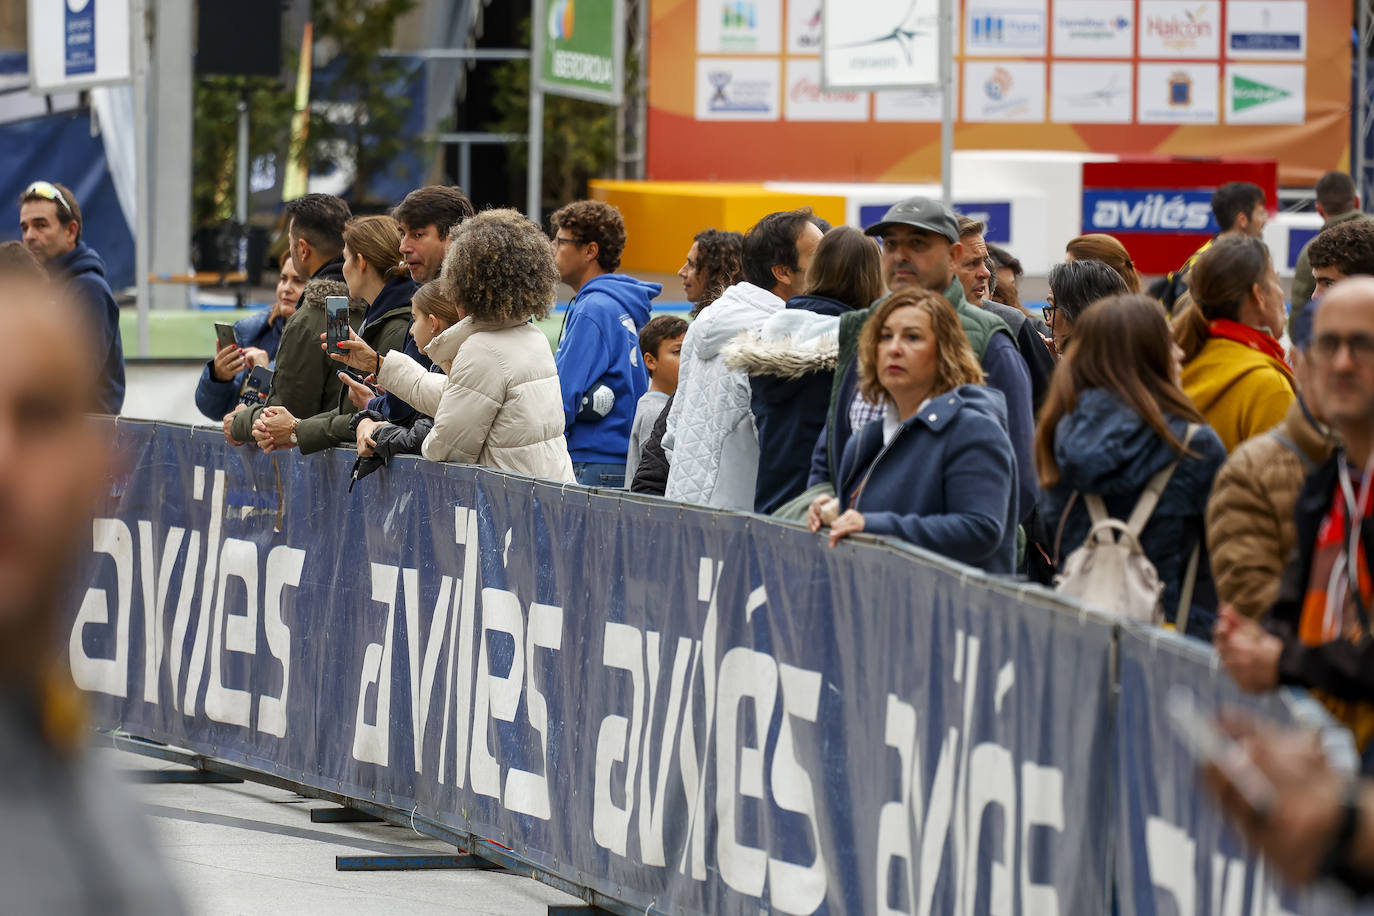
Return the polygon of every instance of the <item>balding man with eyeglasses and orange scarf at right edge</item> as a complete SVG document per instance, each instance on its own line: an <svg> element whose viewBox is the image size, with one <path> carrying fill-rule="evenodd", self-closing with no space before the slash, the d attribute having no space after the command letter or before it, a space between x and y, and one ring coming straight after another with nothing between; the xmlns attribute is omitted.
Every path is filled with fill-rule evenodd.
<svg viewBox="0 0 1374 916"><path fill-rule="evenodd" d="M1369 751L1374 737L1374 279L1342 280L1322 298L1305 360L1311 396L1342 446L1307 478L1298 494L1297 547L1263 625L1223 604L1215 641L1221 665L1242 689L1305 687ZM1366 772L1369 759L1366 754Z"/></svg>

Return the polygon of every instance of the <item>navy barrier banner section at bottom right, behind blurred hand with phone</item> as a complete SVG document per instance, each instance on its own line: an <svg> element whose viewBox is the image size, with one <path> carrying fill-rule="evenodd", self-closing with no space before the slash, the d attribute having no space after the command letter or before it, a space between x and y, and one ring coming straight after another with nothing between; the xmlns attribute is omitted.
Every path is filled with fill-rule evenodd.
<svg viewBox="0 0 1374 916"><path fill-rule="evenodd" d="M1241 694L1213 674L1202 644L1158 629L1123 625L1117 707L1117 886L1124 913L1226 916L1349 913L1348 897L1322 889L1296 894L1275 886L1264 861L1249 853L1198 779L1198 762L1169 722L1171 688L1279 724L1293 714L1276 695ZM1307 703L1314 700L1308 699ZM1353 746L1351 746L1353 754ZM1367 911L1366 911L1367 912Z"/></svg>

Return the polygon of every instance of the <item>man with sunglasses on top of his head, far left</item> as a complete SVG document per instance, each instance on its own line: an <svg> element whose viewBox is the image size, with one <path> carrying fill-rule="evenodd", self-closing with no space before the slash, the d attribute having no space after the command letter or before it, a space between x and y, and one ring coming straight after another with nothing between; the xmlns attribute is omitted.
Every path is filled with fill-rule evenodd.
<svg viewBox="0 0 1374 916"><path fill-rule="evenodd" d="M74 299L89 316L102 360L98 402L106 413L118 413L124 407L120 306L104 279L104 258L81 240L81 206L71 190L52 181L30 184L19 196L19 233L48 273L67 280Z"/></svg>

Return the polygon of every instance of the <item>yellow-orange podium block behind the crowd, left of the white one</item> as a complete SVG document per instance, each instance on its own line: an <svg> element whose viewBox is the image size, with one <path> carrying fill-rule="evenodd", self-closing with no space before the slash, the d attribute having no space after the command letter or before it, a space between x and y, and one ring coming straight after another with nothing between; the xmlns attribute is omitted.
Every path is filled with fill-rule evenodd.
<svg viewBox="0 0 1374 916"><path fill-rule="evenodd" d="M845 221L845 198L769 191L761 184L595 179L591 196L616 205L625 217L621 269L628 273L676 273L702 229L743 232L775 210L809 206L835 225Z"/></svg>

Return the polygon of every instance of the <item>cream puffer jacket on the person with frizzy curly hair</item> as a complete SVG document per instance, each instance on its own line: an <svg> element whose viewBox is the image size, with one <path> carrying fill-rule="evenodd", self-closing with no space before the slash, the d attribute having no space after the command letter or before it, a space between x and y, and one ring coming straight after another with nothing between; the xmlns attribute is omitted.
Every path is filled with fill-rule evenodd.
<svg viewBox="0 0 1374 916"><path fill-rule="evenodd" d="M573 482L563 398L548 339L529 321L466 317L425 349L448 378L392 352L378 383L434 417L420 453Z"/></svg>

